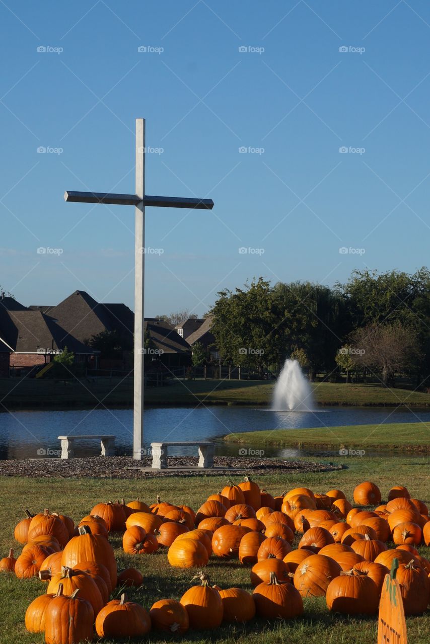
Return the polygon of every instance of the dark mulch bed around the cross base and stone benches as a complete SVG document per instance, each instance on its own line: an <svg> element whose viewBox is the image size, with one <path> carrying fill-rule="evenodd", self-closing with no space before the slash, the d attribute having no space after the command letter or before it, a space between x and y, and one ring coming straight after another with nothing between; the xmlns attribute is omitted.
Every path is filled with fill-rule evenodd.
<svg viewBox="0 0 430 644"><path fill-rule="evenodd" d="M237 474L281 474L302 472L329 472L342 469L342 466L317 463L309 461L282 460L282 459L240 459L234 457L215 457L214 465L217 469L204 469L178 471L172 469L142 471L139 468L151 466L151 457L146 457L140 462L131 457L92 457L90 459L16 459L0 460L0 476L5 477L55 477L55 478L150 478L150 477L192 477L192 476L218 476L234 468ZM196 468L197 457L168 457L169 467ZM220 468L220 469L218 469ZM222 469L224 468L224 469Z"/></svg>

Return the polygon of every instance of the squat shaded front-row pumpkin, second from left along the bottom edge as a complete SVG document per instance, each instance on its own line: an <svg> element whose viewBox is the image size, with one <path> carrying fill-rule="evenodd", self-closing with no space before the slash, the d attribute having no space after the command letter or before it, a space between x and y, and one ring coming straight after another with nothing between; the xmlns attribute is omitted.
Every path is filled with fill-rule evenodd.
<svg viewBox="0 0 430 644"><path fill-rule="evenodd" d="M121 599L112 600L101 609L95 630L101 638L141 637L151 630L150 614L140 604L127 601L124 593Z"/></svg>

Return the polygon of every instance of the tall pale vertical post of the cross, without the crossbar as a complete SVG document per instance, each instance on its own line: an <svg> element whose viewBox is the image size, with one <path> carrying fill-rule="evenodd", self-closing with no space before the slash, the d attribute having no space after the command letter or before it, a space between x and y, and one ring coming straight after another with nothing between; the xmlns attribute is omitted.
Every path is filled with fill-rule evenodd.
<svg viewBox="0 0 430 644"><path fill-rule="evenodd" d="M136 118L133 458L142 459L145 346L145 120Z"/></svg>

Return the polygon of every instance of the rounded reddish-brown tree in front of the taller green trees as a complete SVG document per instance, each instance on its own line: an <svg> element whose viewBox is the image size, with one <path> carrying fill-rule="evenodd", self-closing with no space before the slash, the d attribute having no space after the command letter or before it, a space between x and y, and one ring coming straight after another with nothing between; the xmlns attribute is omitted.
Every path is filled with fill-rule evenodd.
<svg viewBox="0 0 430 644"><path fill-rule="evenodd" d="M351 344L358 365L379 372L386 386L395 386L395 372L415 366L420 358L416 332L400 322L373 323L357 329L351 336Z"/></svg>

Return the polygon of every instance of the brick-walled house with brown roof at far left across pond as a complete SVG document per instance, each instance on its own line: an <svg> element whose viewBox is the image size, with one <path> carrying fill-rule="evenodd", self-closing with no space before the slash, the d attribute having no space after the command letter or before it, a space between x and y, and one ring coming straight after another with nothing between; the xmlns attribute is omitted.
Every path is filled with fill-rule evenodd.
<svg viewBox="0 0 430 644"><path fill-rule="evenodd" d="M75 354L77 362L91 366L95 360L95 352L68 334L52 317L24 307L14 298L0 299L0 343L2 375L8 375L10 366L44 365L66 347Z"/></svg>

